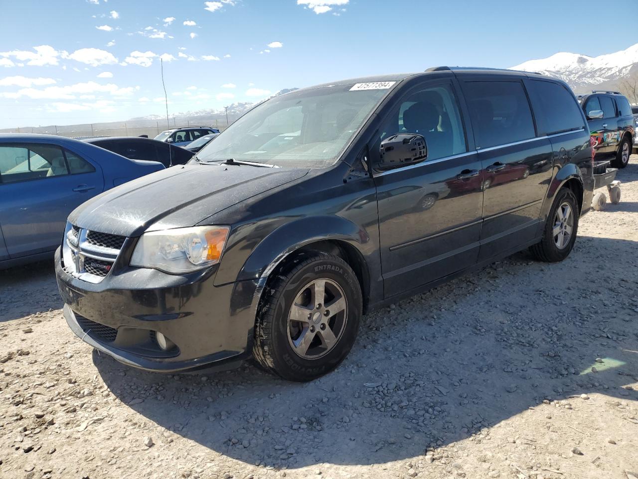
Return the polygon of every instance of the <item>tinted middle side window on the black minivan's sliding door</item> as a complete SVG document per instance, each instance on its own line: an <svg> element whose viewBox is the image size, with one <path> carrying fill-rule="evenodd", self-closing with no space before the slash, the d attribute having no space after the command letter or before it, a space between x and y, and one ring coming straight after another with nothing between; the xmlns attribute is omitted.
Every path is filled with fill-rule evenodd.
<svg viewBox="0 0 638 479"><path fill-rule="evenodd" d="M530 103L521 82L466 82L465 91L477 148L536 136Z"/></svg>

